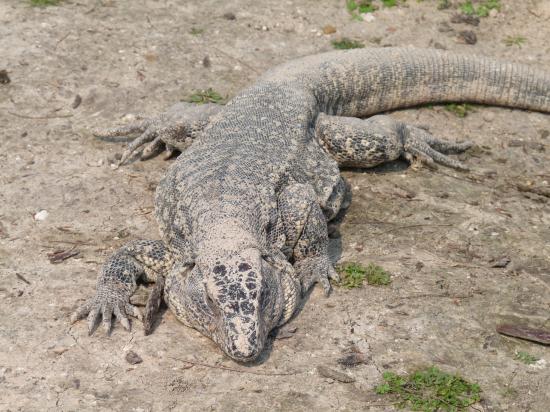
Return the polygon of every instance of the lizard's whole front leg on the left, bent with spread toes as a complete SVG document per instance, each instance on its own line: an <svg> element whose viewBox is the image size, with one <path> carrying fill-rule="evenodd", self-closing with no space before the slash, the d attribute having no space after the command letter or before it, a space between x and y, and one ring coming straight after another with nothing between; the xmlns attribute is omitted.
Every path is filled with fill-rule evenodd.
<svg viewBox="0 0 550 412"><path fill-rule="evenodd" d="M88 332L93 333L99 317L106 333L113 314L125 329L130 329L128 315L142 319L139 309L130 304L137 282L164 282L173 259L160 240L137 240L117 250L103 265L97 279L96 294L71 316L71 322L88 317ZM147 328L146 328L147 329Z"/></svg>

